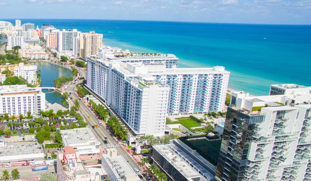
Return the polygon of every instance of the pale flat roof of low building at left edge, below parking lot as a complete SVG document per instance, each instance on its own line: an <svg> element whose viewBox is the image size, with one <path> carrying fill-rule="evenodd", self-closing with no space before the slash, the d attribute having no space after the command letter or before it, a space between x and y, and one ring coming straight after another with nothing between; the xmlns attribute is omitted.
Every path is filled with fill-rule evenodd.
<svg viewBox="0 0 311 181"><path fill-rule="evenodd" d="M43 154L43 149L40 144L35 145L35 142L13 142L8 143L4 142L4 139L0 139L0 159L1 157L10 156L10 159L23 159L23 158L32 158L32 154ZM33 155L35 158L36 156ZM2 160L2 159L1 159ZM4 160L6 160L4 158Z"/></svg>

